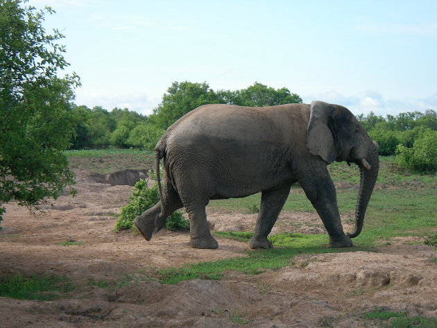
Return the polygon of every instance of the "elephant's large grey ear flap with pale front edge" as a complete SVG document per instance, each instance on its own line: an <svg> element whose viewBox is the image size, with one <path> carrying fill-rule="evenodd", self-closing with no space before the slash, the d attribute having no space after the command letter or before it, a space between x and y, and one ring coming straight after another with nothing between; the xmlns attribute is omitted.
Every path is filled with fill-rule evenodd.
<svg viewBox="0 0 437 328"><path fill-rule="evenodd" d="M310 111L307 147L311 154L319 155L326 162L332 163L336 158L336 147L327 122L334 112L334 107L323 101L313 101Z"/></svg>

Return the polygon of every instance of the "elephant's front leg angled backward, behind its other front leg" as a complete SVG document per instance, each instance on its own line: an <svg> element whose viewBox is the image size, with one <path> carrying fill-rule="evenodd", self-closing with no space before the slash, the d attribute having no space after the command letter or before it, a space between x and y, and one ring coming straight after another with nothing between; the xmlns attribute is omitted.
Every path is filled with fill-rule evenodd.
<svg viewBox="0 0 437 328"><path fill-rule="evenodd" d="M291 186L282 189L262 191L261 206L257 223L255 225L255 234L250 239L250 248L272 248L273 244L268 241L267 236L272 231L272 227L280 214L282 207L289 196Z"/></svg>

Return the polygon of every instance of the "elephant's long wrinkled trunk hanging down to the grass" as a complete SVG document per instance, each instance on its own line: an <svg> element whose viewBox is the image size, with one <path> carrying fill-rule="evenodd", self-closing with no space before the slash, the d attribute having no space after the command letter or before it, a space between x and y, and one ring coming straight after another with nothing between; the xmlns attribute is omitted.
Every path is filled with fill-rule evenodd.
<svg viewBox="0 0 437 328"><path fill-rule="evenodd" d="M358 236L361 229L363 229L364 214L366 214L367 205L378 177L379 157L377 153L370 155L367 161L366 159L361 159L359 169L361 178L359 182L357 207L355 207L355 230L352 233L348 233L350 238Z"/></svg>

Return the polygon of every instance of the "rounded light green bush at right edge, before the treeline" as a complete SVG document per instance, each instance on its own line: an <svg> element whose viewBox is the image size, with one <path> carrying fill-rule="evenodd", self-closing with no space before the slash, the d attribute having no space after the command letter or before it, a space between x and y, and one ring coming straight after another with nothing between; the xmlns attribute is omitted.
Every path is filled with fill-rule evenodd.
<svg viewBox="0 0 437 328"><path fill-rule="evenodd" d="M423 132L412 148L398 145L397 166L404 171L434 173L437 171L437 131Z"/></svg>

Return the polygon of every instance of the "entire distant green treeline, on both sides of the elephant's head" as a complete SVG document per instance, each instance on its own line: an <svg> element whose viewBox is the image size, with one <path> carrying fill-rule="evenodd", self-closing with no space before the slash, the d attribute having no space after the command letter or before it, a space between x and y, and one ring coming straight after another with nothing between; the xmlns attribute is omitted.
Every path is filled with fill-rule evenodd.
<svg viewBox="0 0 437 328"><path fill-rule="evenodd" d="M289 89L274 89L254 83L246 89L214 91L207 83L174 82L162 97L153 114L144 116L128 109L86 106L73 108L77 120L76 136L71 149L83 148L142 148L153 150L166 128L190 110L207 103L228 103L243 106L269 106L302 103L302 98ZM403 112L385 117L373 112L357 119L370 137L379 144L380 155L395 155L398 145L411 148L414 142L437 131L434 110Z"/></svg>

